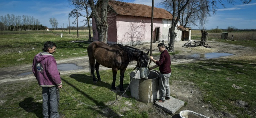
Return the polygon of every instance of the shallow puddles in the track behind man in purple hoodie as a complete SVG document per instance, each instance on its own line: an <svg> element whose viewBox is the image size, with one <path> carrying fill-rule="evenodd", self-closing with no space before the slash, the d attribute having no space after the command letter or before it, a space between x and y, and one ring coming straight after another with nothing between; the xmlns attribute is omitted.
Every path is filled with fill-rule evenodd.
<svg viewBox="0 0 256 118"><path fill-rule="evenodd" d="M58 70L61 70L61 71L78 70L83 68L82 66L77 66L76 64L71 64L71 63L59 64L57 65L57 67L58 67ZM20 73L19 76L29 75L29 74L32 74L32 72Z"/></svg>

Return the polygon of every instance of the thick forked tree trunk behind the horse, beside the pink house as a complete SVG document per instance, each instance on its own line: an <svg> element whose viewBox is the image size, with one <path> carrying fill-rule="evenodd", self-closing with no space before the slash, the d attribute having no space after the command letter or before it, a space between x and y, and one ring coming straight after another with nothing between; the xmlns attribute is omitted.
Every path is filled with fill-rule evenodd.
<svg viewBox="0 0 256 118"><path fill-rule="evenodd" d="M95 2L97 1L97 7ZM108 0L88 0L92 10L92 16L96 22L96 29L98 31L99 41L107 42L108 37Z"/></svg>

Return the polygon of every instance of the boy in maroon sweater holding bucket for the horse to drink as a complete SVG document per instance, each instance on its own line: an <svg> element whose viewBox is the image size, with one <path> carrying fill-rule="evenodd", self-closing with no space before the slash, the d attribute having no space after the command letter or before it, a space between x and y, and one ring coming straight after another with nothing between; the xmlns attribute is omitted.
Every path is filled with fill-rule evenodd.
<svg viewBox="0 0 256 118"><path fill-rule="evenodd" d="M153 67L149 68L152 70L159 66L160 78L159 78L159 91L161 93L160 99L156 102L164 102L165 100L170 100L170 86L169 78L171 76L171 57L166 50L164 43L159 43L157 45L158 50L161 52L159 61L156 61L152 56L150 60L156 63Z"/></svg>

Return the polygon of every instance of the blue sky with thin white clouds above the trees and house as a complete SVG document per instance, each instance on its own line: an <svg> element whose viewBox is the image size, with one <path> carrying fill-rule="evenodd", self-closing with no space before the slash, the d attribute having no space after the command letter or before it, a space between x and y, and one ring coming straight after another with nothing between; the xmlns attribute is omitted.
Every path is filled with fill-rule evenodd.
<svg viewBox="0 0 256 118"><path fill-rule="evenodd" d="M152 5L152 0L124 0L137 4ZM161 0L154 0L154 7L157 6ZM218 4L216 14L207 18L205 29L227 29L228 26L233 26L238 29L256 29L256 1L252 0L250 4L242 4L240 0L232 4L225 3L225 7ZM68 0L0 0L0 16L7 14L14 14L15 16L28 15L38 19L44 26L52 28L49 23L50 18L56 18L60 28L61 25L67 27L68 13L72 10L72 6ZM78 18L78 25L84 18ZM70 26L74 18L70 18ZM197 26L190 26L192 29L200 29Z"/></svg>

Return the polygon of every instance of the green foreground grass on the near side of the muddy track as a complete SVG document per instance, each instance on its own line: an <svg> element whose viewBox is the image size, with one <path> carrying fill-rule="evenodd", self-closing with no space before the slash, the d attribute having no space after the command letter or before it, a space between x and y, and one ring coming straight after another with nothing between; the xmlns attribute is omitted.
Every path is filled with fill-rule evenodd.
<svg viewBox="0 0 256 118"><path fill-rule="evenodd" d="M207 60L197 63L172 65L173 71L170 82L172 80L191 81L203 92L203 101L210 104L213 108L219 111L227 111L236 115L237 118L252 118L255 117L254 112L256 110L255 67L255 62L237 60ZM127 69L125 72L124 88L129 84L129 74L131 71L133 70ZM63 89L60 89L60 110L67 107L63 111L67 117L119 118L120 114L123 114L125 118L148 117L151 111L140 111L139 107L137 107L139 102L131 98L129 91L125 93L129 97L122 97L122 99L117 101L119 104L102 108L90 107L90 105L103 106L104 104L110 104L116 100L116 97L121 95L121 93L110 91L112 83L111 70L103 70L100 73L104 73L101 74L103 81L96 84L92 83L89 73L73 73L62 76L65 90L84 103L79 103L63 91ZM26 87L23 87L24 84L26 84ZM118 84L119 82L116 81L116 85ZM242 88L235 89L233 85ZM20 117L19 114L22 114L24 118L42 117L41 107L16 108L42 105L41 88L35 80L26 83L1 85L0 89L2 90L1 100L5 101L1 103L1 106L14 107L11 109L0 109L0 117ZM239 100L248 103L249 107L237 106L236 103ZM126 104L126 102L129 102L131 105ZM67 104L70 105L68 106ZM104 111L108 111L108 113L104 113Z"/></svg>

